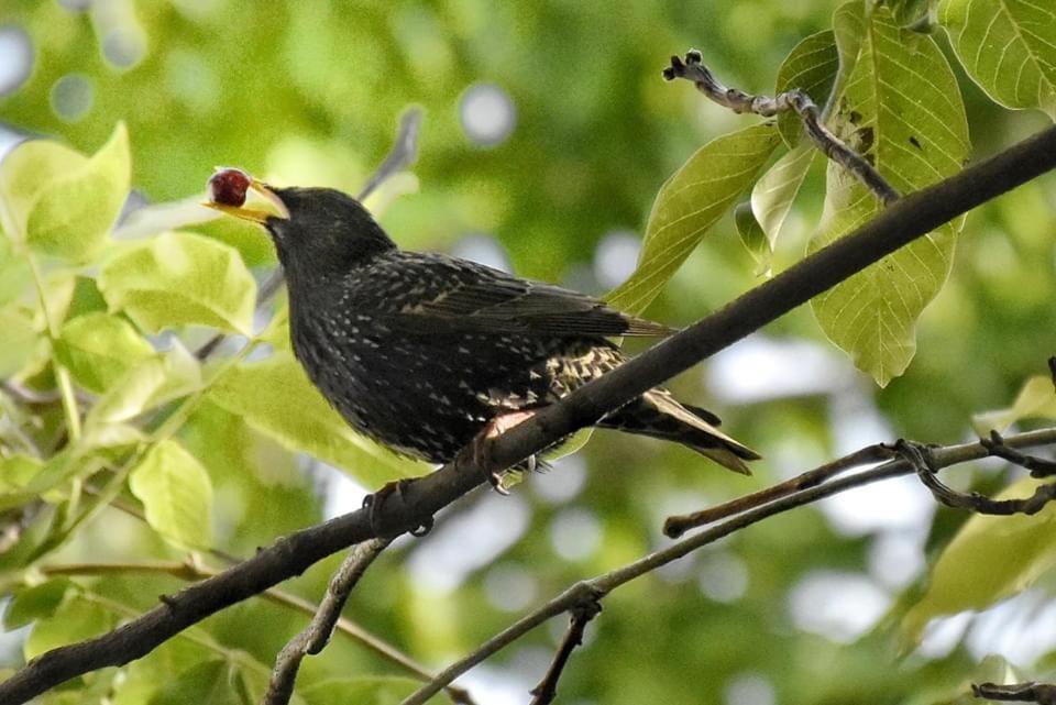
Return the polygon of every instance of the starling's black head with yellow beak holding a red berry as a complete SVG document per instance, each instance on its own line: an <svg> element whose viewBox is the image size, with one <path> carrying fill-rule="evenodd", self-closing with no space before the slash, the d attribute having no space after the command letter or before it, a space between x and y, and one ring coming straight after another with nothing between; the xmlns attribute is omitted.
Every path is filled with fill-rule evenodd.
<svg viewBox="0 0 1056 705"><path fill-rule="evenodd" d="M250 192L260 205L246 205ZM292 279L342 275L396 247L358 200L332 188L275 188L226 168L209 179L205 205L262 225Z"/></svg>

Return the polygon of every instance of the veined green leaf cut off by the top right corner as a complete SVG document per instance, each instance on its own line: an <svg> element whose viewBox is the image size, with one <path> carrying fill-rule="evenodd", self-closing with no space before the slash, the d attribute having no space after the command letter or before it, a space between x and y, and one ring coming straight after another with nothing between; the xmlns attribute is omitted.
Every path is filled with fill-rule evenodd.
<svg viewBox="0 0 1056 705"><path fill-rule="evenodd" d="M1056 8L1037 0L943 0L938 21L968 75L1007 108L1056 119Z"/></svg>

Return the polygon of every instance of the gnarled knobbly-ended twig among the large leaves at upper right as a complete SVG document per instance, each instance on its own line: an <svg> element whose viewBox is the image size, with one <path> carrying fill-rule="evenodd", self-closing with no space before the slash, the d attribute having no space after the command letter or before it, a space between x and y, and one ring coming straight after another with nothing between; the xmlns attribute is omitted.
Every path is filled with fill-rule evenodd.
<svg viewBox="0 0 1056 705"><path fill-rule="evenodd" d="M737 88L727 88L715 78L702 63L703 60L704 56L696 49L686 52L684 62L678 56L672 56L671 66L663 69L663 77L667 80L675 78L691 80L702 93L736 113L750 112L763 118L772 118L778 113L794 112L803 120L806 135L814 145L825 156L850 172L876 194L884 206L899 198L899 192L880 176L880 172L822 124L821 110L805 92L795 88L771 98L752 96Z"/></svg>

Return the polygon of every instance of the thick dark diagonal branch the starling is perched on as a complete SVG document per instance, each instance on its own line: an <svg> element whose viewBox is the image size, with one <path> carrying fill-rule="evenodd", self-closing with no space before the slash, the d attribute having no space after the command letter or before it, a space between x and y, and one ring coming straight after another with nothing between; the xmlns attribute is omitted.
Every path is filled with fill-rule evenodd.
<svg viewBox="0 0 1056 705"><path fill-rule="evenodd" d="M463 452L454 462L391 495L375 514L376 526L385 536L420 526L482 484L490 471L508 467L594 423L902 245L1054 166L1056 128L1050 128L945 181L899 199L855 233L495 439L490 453L494 467L477 467L472 453ZM187 587L168 604L114 631L40 656L0 684L0 705L25 702L82 673L143 657L209 615L299 575L331 553L374 538L371 527L370 513L361 509L279 539L252 559Z"/></svg>

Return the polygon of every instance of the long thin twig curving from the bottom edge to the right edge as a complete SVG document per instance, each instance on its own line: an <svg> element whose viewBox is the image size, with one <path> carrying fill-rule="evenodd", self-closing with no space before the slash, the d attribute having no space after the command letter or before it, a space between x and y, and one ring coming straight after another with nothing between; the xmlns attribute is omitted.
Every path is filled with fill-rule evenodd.
<svg viewBox="0 0 1056 705"><path fill-rule="evenodd" d="M1019 436L1011 436L1005 439L1005 443L1015 448L1052 445L1056 443L1056 428L1042 429L1038 431L1021 433ZM987 458L989 452L982 447L981 443L965 443L961 445L950 445L932 450L932 460L936 469L966 463L972 460L979 460ZM837 477L823 485L817 485L815 487L803 489L802 492L787 495L780 499L759 507L752 507L747 511L730 517L722 524L705 529L700 533L694 533L689 538L682 539L681 541L672 543L671 546L659 551L654 551L653 553L642 557L632 563L628 563L623 568L609 571L608 573L603 573L602 575L597 575L590 580L580 581L557 597L553 597L547 603L540 605L503 631L482 643L463 659L449 665L447 669L438 673L433 681L427 683L425 686L413 693L409 697L404 700L400 705L424 705L430 697L439 693L444 685L451 683L454 679L459 678L477 663L481 663L509 643L513 643L551 617L568 612L575 605L582 604L591 595L594 595L597 599L601 599L603 596L608 595L608 593L613 592L617 587L629 583L637 577L641 577L642 575L650 573L658 568L667 565L668 563L671 563L672 561L675 561L703 546L714 543L715 541L725 538L730 533L739 531L774 515L789 511L790 509L794 509L803 505L812 504L818 499L824 499L825 497L831 497L855 487L868 485L881 480L888 480L890 477L908 475L913 471L913 465L905 458L890 460L877 467L861 471L846 477Z"/></svg>

